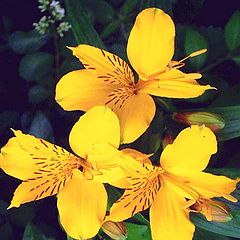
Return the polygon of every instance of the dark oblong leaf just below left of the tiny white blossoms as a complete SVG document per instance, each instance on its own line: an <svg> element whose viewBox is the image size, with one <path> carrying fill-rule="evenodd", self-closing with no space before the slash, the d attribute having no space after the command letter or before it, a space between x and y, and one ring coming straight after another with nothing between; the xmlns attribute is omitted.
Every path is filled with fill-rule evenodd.
<svg viewBox="0 0 240 240"><path fill-rule="evenodd" d="M16 53L32 53L42 47L47 40L47 35L40 35L36 31L17 31L10 35L8 45Z"/></svg>

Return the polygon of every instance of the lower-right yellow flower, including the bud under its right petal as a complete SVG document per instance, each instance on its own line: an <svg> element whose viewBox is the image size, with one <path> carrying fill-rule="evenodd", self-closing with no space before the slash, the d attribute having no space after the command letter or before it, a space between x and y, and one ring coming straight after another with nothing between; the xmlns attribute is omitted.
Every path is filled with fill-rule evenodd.
<svg viewBox="0 0 240 240"><path fill-rule="evenodd" d="M202 172L216 151L216 137L209 128L184 129L163 150L159 167L135 162L132 168L125 169L131 186L113 204L106 220L119 222L150 207L155 240L174 240L176 236L192 239L195 227L189 220L190 211L201 212L208 220L227 221L227 208L211 198L237 201L230 193L239 179Z"/></svg>

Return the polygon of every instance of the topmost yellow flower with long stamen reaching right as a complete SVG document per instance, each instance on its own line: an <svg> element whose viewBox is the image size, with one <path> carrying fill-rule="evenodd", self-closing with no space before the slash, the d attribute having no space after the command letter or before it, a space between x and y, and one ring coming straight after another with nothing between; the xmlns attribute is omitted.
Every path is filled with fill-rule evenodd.
<svg viewBox="0 0 240 240"><path fill-rule="evenodd" d="M192 98L213 89L198 84L195 79L201 78L201 74L178 70L186 58L171 61L174 37L174 23L162 10L148 8L137 16L127 44L128 59L138 74L137 81L129 65L118 56L89 45L71 47L85 69L62 77L56 87L56 101L65 110L86 111L95 105L107 105L120 119L121 142L136 140L155 114L150 95Z"/></svg>

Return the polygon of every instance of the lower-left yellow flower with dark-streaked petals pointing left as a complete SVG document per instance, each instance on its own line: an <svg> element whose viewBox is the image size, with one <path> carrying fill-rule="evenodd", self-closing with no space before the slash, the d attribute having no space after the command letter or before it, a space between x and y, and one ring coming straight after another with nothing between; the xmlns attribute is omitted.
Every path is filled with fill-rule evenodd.
<svg viewBox="0 0 240 240"><path fill-rule="evenodd" d="M68 235L75 239L96 235L107 207L101 182L121 177L113 162L113 154L121 153L116 150L120 142L117 116L101 106L86 112L69 135L77 155L19 130L13 132L15 137L1 149L0 166L22 183L9 208L58 193L60 222Z"/></svg>

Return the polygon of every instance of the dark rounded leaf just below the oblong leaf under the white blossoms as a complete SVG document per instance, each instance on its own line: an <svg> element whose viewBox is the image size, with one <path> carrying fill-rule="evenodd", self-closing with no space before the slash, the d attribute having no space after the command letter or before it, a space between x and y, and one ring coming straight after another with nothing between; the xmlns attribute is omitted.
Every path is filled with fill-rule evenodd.
<svg viewBox="0 0 240 240"><path fill-rule="evenodd" d="M20 76L28 81L39 81L47 75L53 66L53 56L37 52L25 55L19 65Z"/></svg>

